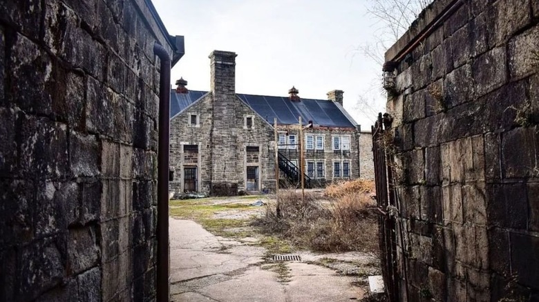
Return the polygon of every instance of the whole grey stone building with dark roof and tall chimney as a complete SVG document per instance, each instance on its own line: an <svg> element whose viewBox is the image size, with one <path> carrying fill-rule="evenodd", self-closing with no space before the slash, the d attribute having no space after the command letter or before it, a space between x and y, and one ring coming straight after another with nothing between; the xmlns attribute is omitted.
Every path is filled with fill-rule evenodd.
<svg viewBox="0 0 539 302"><path fill-rule="evenodd" d="M183 80L171 91L172 190L216 195L274 190L275 150L281 177L297 183L300 116L304 128L312 124L303 132L308 185L372 177L361 171L361 132L342 107L341 90L329 92L328 100L301 99L296 88L290 97L236 94L235 58L234 52L210 54L209 92L189 91ZM372 152L366 156L372 165Z"/></svg>

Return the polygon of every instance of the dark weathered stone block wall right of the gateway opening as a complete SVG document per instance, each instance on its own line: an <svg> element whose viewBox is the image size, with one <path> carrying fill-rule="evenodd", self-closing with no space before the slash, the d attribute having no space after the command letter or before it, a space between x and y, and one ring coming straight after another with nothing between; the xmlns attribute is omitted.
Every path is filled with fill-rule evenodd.
<svg viewBox="0 0 539 302"><path fill-rule="evenodd" d="M539 2L463 2L397 62L388 99L401 299L537 301Z"/></svg>

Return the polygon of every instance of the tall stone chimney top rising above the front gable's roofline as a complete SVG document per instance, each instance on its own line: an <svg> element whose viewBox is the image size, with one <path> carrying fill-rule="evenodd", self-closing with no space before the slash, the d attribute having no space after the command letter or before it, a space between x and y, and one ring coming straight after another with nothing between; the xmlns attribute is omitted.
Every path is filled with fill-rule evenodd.
<svg viewBox="0 0 539 302"><path fill-rule="evenodd" d="M214 96L236 94L236 52L214 50L210 59L210 89Z"/></svg>

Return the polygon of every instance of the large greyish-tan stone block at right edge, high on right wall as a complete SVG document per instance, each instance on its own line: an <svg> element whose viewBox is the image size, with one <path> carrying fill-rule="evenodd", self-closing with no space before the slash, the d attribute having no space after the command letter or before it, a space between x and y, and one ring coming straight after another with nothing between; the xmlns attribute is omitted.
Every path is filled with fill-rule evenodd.
<svg viewBox="0 0 539 302"><path fill-rule="evenodd" d="M539 28L533 27L509 41L507 61L509 78L522 79L537 71L539 66Z"/></svg>

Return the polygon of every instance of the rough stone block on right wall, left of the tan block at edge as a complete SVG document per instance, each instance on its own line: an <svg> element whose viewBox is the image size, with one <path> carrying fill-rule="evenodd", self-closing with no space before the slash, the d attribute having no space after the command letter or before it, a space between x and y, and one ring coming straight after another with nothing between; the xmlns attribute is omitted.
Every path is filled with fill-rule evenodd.
<svg viewBox="0 0 539 302"><path fill-rule="evenodd" d="M481 97L507 83L505 47L494 48L477 57L473 63L475 95Z"/></svg>

